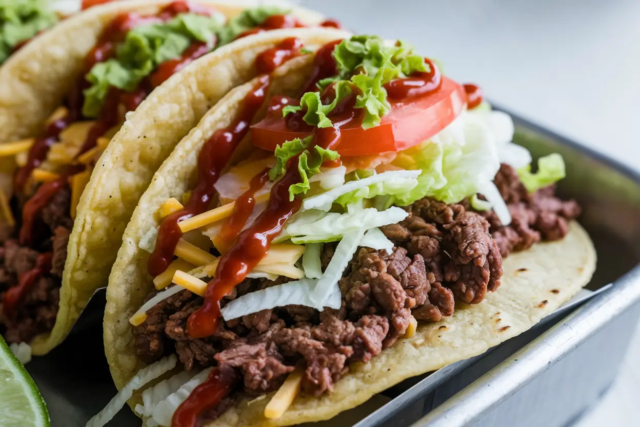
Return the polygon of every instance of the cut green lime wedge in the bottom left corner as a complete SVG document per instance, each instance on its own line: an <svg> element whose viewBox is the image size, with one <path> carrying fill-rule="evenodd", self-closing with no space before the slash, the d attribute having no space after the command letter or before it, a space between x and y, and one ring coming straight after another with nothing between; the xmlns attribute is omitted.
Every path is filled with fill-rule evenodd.
<svg viewBox="0 0 640 427"><path fill-rule="evenodd" d="M0 337L0 426L49 426L49 412L38 388L3 337Z"/></svg>

